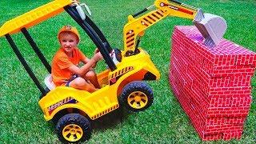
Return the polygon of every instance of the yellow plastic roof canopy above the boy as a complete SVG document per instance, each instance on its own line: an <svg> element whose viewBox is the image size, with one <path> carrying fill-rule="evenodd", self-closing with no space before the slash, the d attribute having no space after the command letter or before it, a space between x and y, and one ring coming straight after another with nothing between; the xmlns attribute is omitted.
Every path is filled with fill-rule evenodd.
<svg viewBox="0 0 256 144"><path fill-rule="evenodd" d="M73 0L55 0L37 9L31 10L26 14L22 14L17 18L11 19L0 28L0 37L6 34L18 33L23 27L28 29L30 26L34 26L39 22L54 17L54 15L64 10L64 6L70 5L72 2Z"/></svg>

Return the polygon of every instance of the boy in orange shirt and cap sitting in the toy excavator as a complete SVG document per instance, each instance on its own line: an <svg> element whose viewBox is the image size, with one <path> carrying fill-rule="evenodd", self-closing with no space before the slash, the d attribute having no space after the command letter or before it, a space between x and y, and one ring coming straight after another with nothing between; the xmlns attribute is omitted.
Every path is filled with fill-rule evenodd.
<svg viewBox="0 0 256 144"><path fill-rule="evenodd" d="M96 49L93 58L86 58L78 50L80 37L78 30L73 26L63 26L58 32L58 41L61 48L54 56L51 70L54 84L87 90L90 93L98 90L100 86L93 68L102 59L102 54ZM84 65L78 67L79 62Z"/></svg>

